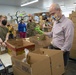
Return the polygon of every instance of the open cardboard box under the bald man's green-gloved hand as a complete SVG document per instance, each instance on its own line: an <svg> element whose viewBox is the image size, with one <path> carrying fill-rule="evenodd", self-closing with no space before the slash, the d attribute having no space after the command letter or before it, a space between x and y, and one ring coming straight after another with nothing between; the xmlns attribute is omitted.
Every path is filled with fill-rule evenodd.
<svg viewBox="0 0 76 75"><path fill-rule="evenodd" d="M44 48L50 45L51 39L48 36L36 35L29 37L30 41L35 43L35 49Z"/></svg>

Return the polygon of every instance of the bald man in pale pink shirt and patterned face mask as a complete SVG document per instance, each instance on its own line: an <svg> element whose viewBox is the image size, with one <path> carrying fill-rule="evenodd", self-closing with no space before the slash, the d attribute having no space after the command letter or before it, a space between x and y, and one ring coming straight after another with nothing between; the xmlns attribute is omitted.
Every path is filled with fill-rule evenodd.
<svg viewBox="0 0 76 75"><path fill-rule="evenodd" d="M58 4L53 3L50 6L49 13L52 19L54 19L54 25L52 31L44 32L44 35L52 38L50 49L63 51L64 66L66 67L73 42L74 24L62 14Z"/></svg>

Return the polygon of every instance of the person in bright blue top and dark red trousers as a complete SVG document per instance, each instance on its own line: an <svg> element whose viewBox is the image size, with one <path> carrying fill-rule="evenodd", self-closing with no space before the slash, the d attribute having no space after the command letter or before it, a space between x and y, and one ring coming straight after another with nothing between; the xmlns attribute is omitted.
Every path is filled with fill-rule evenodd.
<svg viewBox="0 0 76 75"><path fill-rule="evenodd" d="M26 37L26 24L24 23L23 19L21 19L20 23L18 24L18 32L20 34L20 38Z"/></svg>

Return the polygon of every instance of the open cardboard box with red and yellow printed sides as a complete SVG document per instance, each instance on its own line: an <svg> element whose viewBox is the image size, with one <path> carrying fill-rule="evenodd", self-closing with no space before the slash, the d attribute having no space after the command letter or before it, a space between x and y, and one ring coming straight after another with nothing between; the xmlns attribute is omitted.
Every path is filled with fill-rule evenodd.
<svg viewBox="0 0 76 75"><path fill-rule="evenodd" d="M26 41L26 39L8 40L6 45L8 48L8 53L15 56L24 53L25 48L29 49L30 51L35 49L35 44Z"/></svg>

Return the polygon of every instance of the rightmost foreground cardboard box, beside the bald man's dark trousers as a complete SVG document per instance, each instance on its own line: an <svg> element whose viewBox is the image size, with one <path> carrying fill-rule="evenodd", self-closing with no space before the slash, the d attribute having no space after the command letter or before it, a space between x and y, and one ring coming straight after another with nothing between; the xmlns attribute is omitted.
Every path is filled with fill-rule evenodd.
<svg viewBox="0 0 76 75"><path fill-rule="evenodd" d="M62 75L64 73L64 61L62 51L41 48L40 50L36 50L33 52L49 56L52 75Z"/></svg>

